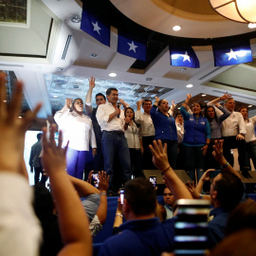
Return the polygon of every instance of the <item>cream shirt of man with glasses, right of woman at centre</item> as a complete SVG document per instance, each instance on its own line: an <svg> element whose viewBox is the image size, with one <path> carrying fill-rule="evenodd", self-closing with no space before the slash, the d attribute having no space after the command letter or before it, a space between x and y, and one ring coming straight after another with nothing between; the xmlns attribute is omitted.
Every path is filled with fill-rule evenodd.
<svg viewBox="0 0 256 256"><path fill-rule="evenodd" d="M155 127L151 116L147 113L141 113L137 110L135 113L135 121L140 124L140 133L142 137L155 136Z"/></svg>

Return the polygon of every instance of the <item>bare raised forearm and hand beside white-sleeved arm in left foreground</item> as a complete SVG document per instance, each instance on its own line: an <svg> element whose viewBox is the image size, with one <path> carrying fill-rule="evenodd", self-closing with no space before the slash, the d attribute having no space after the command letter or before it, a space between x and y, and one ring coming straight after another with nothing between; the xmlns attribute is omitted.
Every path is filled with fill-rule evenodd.
<svg viewBox="0 0 256 256"><path fill-rule="evenodd" d="M55 131L56 125L53 124L48 140L46 127L43 128L43 163L50 179L51 192L55 198L64 242L64 248L59 255L84 255L84 253L91 255L92 239L88 218L82 208L81 200L65 172L67 146L62 148L62 132L59 134L59 143L56 146Z"/></svg>

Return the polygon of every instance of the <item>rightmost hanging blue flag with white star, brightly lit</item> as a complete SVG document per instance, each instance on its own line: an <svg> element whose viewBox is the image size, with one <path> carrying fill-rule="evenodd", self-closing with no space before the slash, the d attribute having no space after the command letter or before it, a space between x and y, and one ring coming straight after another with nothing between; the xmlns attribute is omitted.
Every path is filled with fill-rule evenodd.
<svg viewBox="0 0 256 256"><path fill-rule="evenodd" d="M214 65L245 64L252 62L249 41L213 45Z"/></svg>

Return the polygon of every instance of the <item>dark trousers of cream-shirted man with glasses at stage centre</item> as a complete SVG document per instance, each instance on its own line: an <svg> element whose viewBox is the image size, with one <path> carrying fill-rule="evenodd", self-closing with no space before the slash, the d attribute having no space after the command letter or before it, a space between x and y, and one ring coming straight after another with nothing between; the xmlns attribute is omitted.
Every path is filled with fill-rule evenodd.
<svg viewBox="0 0 256 256"><path fill-rule="evenodd" d="M142 145L144 152L142 155L142 169L143 170L155 170L155 165L152 162L152 153L149 149L149 145L153 145L155 136L142 137Z"/></svg>

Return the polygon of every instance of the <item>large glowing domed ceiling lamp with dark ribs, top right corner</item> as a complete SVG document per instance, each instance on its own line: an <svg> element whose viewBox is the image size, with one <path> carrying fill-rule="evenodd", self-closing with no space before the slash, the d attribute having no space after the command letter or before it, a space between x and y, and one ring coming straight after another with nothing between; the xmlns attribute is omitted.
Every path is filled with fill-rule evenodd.
<svg viewBox="0 0 256 256"><path fill-rule="evenodd" d="M211 7L225 18L241 23L256 22L256 2L251 0L209 0Z"/></svg>

